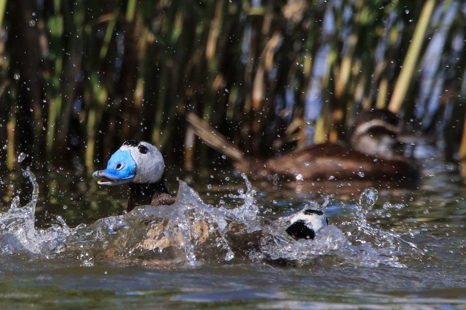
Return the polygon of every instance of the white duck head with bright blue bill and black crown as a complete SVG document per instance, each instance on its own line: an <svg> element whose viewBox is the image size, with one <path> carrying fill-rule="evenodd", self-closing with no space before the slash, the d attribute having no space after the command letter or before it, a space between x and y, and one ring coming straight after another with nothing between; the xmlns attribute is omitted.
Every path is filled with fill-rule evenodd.
<svg viewBox="0 0 466 310"><path fill-rule="evenodd" d="M110 157L105 170L95 171L92 176L99 179L100 185L152 184L160 182L164 169L164 158L154 145L129 140Z"/></svg>

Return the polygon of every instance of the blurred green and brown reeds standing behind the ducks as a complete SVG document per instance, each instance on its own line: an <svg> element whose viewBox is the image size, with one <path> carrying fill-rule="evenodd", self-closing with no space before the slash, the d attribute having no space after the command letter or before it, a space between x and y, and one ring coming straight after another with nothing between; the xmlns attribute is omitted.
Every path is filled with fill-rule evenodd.
<svg viewBox="0 0 466 310"><path fill-rule="evenodd" d="M464 1L0 0L0 25L0 169L92 170L129 138L218 158L188 111L269 155L388 108L466 157Z"/></svg>

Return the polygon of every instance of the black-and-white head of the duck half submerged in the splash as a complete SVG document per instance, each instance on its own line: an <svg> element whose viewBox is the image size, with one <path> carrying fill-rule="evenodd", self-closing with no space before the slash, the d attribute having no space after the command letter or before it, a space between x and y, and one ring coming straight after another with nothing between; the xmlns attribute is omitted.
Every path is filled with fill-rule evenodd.
<svg viewBox="0 0 466 310"><path fill-rule="evenodd" d="M314 239L316 232L329 221L323 211L304 209L290 218L290 226L285 230L294 239Z"/></svg>

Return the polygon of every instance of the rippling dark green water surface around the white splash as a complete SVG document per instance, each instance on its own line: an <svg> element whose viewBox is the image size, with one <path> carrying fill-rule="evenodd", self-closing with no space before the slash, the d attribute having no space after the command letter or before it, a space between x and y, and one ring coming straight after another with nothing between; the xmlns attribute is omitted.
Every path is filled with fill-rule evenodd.
<svg viewBox="0 0 466 310"><path fill-rule="evenodd" d="M65 258L31 259L19 253L0 256L0 309L466 309L466 186L458 167L430 159L422 163L419 189L381 192L368 215L372 226L398 233L424 250L423 255L400 251L405 268L368 266L361 257L341 262L327 255L300 267L216 263L158 270L106 262L83 267ZM121 188L95 186L78 172L38 174L39 227L53 223L57 215L73 226L125 208ZM168 176L177 175L171 170ZM2 178L5 200L14 190L9 185L21 178ZM244 182L232 172L212 170L202 171L191 185L206 202L234 204L224 195ZM169 187L176 189L176 182ZM25 190L20 195L27 201L30 194ZM256 199L262 214L278 217L316 196L270 186L261 187ZM2 212L8 207L2 202ZM347 236L355 229L350 196L333 198L326 213Z"/></svg>

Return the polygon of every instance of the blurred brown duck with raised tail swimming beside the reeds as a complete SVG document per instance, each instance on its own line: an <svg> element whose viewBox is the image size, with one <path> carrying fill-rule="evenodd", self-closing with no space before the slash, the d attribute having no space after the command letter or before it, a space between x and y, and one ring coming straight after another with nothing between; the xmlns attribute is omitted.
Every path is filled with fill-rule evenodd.
<svg viewBox="0 0 466 310"><path fill-rule="evenodd" d="M375 109L355 118L350 145L322 143L269 158L243 155L215 129L194 114L188 115L196 134L206 144L234 159L234 166L252 179L263 180L279 175L289 180L413 181L419 177L416 165L402 156L399 118Z"/></svg>

